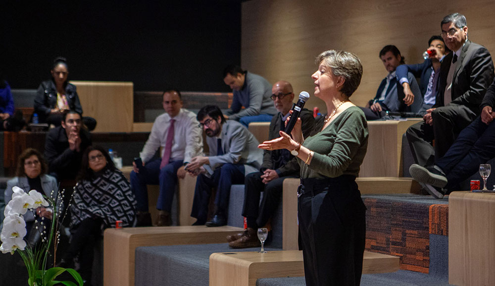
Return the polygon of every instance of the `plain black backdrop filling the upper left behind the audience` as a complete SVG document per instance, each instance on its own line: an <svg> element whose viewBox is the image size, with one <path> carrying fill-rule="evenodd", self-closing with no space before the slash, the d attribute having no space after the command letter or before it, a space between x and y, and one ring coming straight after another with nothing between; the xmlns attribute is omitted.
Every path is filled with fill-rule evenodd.
<svg viewBox="0 0 495 286"><path fill-rule="evenodd" d="M241 62L241 1L2 1L0 68L37 88L66 57L69 80L132 81L135 90L229 91Z"/></svg>

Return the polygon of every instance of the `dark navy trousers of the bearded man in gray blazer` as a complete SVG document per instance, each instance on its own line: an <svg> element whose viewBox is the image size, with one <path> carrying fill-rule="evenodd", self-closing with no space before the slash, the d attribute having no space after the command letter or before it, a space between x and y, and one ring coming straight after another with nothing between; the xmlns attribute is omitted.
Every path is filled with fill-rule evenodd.
<svg viewBox="0 0 495 286"><path fill-rule="evenodd" d="M203 174L198 175L196 188L194 190L193 210L191 217L197 218L198 222L205 223L208 216L208 202L210 200L211 188L216 188L215 214L227 216L229 206L230 187L233 184L244 183L244 165L224 164L216 169L211 177Z"/></svg>

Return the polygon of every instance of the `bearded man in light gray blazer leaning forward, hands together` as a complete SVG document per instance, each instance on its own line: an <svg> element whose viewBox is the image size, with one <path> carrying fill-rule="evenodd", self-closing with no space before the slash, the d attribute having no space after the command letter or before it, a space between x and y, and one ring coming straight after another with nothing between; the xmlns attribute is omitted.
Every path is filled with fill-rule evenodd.
<svg viewBox="0 0 495 286"><path fill-rule="evenodd" d="M245 175L261 166L263 153L258 141L241 123L226 121L218 106L208 105L198 112L197 119L205 131L209 156L191 160L186 170L198 175L191 216L195 225L220 227L227 224L227 208L232 184L243 184ZM211 188L216 188L215 212L206 222Z"/></svg>

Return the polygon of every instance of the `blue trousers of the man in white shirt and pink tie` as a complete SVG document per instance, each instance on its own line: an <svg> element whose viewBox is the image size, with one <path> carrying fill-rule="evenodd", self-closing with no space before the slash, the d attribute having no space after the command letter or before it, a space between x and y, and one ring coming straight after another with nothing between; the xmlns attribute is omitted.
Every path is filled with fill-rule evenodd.
<svg viewBox="0 0 495 286"><path fill-rule="evenodd" d="M138 202L137 210L148 212L148 188L146 185L159 185L160 194L156 209L170 212L177 185L177 170L183 165L183 160L172 161L160 170L161 159L148 162L141 172L131 172L131 187Z"/></svg>

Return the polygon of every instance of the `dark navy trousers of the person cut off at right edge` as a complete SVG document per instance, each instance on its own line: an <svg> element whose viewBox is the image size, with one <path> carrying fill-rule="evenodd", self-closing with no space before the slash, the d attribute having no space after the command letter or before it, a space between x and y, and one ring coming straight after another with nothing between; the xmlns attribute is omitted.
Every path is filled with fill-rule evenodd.
<svg viewBox="0 0 495 286"><path fill-rule="evenodd" d="M487 125L478 116L460 132L454 144L435 165L446 173L446 189L451 190L478 172L480 164L485 164L493 157L495 157L495 121Z"/></svg>

